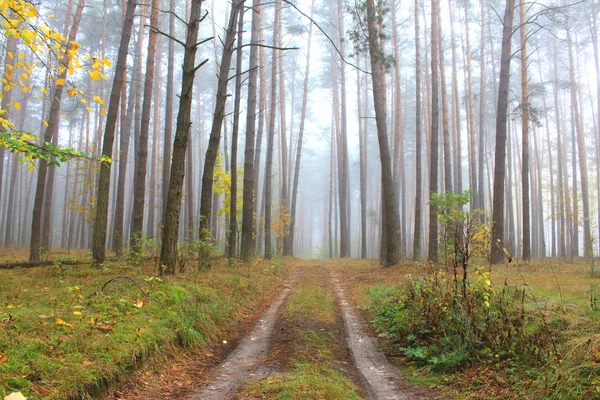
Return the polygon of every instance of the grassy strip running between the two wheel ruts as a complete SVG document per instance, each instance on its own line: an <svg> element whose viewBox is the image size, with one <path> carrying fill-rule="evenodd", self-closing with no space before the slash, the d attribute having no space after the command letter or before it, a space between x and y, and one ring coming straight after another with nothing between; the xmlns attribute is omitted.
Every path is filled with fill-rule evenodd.
<svg viewBox="0 0 600 400"><path fill-rule="evenodd" d="M335 368L339 342L328 329L336 320L334 299L322 282L301 283L288 300L284 315L294 332L292 369L284 374L248 383L242 399L361 399L356 386ZM298 324L296 324L296 321Z"/></svg>

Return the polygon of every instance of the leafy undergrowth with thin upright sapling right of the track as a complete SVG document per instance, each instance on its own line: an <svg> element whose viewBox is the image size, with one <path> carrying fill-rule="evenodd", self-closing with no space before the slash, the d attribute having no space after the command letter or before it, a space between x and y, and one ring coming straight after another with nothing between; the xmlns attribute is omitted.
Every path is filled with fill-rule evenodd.
<svg viewBox="0 0 600 400"><path fill-rule="evenodd" d="M489 269L471 265L488 228L462 211L464 197L452 196L434 200L442 204L445 267L368 292L389 351L470 398L600 398L596 313L539 301L524 280L493 285Z"/></svg>

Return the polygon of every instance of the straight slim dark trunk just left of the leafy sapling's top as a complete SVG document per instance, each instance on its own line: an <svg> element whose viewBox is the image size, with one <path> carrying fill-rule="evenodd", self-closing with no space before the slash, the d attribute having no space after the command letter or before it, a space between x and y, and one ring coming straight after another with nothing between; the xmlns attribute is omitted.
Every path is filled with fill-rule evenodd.
<svg viewBox="0 0 600 400"><path fill-rule="evenodd" d="M431 1L431 163L429 165L429 249L430 262L438 260L437 206L431 197L438 191L438 153L439 153L439 80L438 80L438 0Z"/></svg>

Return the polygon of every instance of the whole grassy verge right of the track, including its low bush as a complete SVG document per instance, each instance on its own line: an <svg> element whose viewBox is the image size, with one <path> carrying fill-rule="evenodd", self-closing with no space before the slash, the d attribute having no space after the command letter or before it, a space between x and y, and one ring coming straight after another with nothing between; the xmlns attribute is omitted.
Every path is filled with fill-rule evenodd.
<svg viewBox="0 0 600 400"><path fill-rule="evenodd" d="M357 298L413 383L446 386L457 398L594 399L600 279L592 272L587 262L557 260L472 269L463 292L451 274L423 271L362 286Z"/></svg>

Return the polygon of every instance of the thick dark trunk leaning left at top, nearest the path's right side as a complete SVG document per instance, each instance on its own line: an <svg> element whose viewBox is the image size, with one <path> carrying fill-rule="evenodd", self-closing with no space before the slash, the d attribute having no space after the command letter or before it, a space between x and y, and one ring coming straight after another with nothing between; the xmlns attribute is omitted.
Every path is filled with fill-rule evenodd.
<svg viewBox="0 0 600 400"><path fill-rule="evenodd" d="M378 26L378 17L383 18L383 15L377 15L374 0L367 0L366 6L371 77L373 79L373 103L381 161L382 211L385 216L385 219L382 219L382 237L385 237L385 243L381 244L382 248L385 248L385 252L382 254L384 258L381 259L381 264L391 266L398 262L399 217L396 195L394 194L395 188L386 126L385 64L382 59L383 49L380 43L382 35Z"/></svg>

